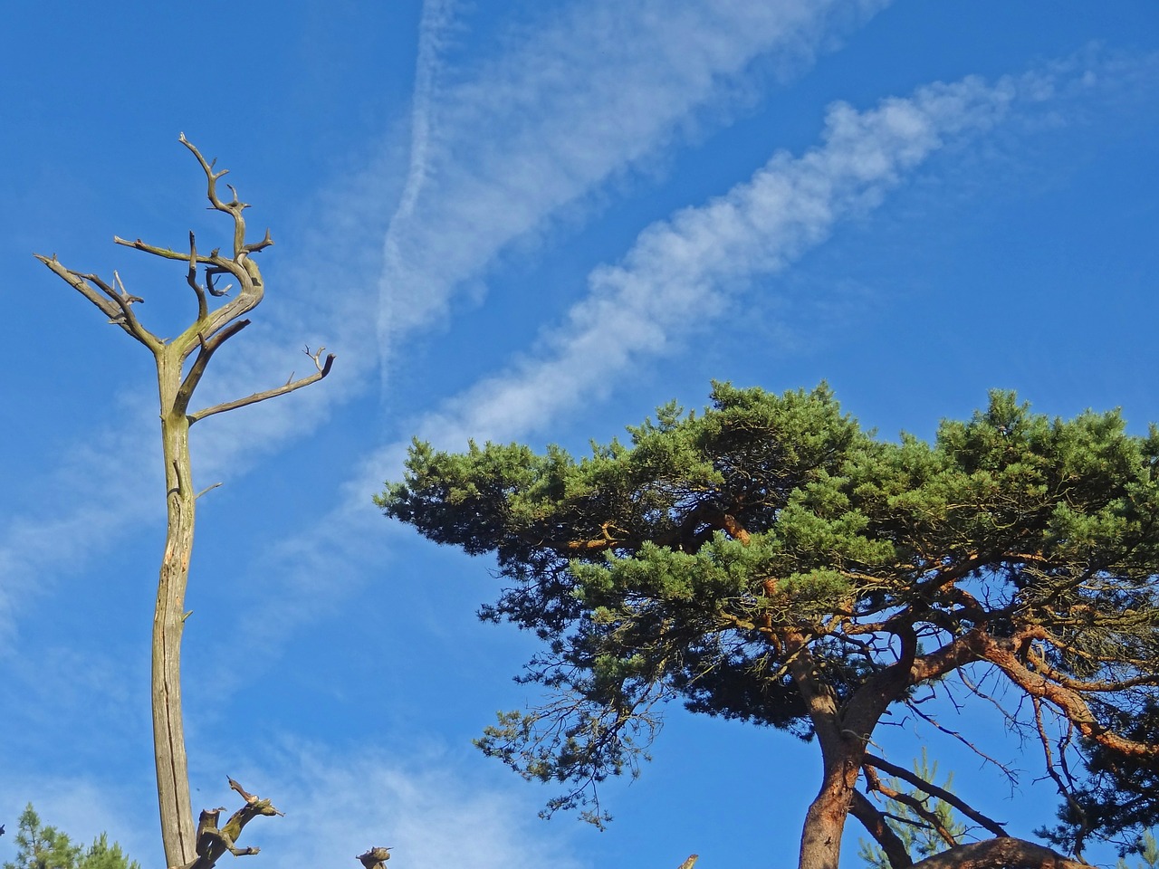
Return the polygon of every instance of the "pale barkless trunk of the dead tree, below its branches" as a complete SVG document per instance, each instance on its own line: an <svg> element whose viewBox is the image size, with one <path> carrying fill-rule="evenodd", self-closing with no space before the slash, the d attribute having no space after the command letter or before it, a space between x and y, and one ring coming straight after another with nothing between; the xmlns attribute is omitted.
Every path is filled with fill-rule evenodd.
<svg viewBox="0 0 1159 869"><path fill-rule="evenodd" d="M189 419L183 407L175 407L180 364L167 365L159 358L158 378L169 521L153 614L153 748L165 860L166 866L176 867L196 857L197 841L181 711L181 634L197 497L189 458Z"/></svg>

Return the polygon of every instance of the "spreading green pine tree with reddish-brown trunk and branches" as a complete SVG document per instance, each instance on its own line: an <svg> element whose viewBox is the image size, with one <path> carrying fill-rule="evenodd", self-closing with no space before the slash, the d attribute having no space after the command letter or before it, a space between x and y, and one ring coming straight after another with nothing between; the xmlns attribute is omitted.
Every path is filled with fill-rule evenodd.
<svg viewBox="0 0 1159 869"><path fill-rule="evenodd" d="M504 587L482 615L544 641L524 678L551 700L502 715L480 745L568 782L549 809L635 773L663 701L679 699L817 742L801 864L836 866L846 815L880 826L882 773L921 784L872 753L874 729L894 707L920 718L916 692L953 677L979 699L984 680L1005 682L985 706L1042 746L1063 797L1043 833L1056 846L1081 855L1091 837L1156 821L1156 429L1130 434L1117 412L1051 419L996 392L932 444L889 441L824 385L716 384L704 412L668 406L629 432L580 460L416 441L404 481L378 498L431 540L497 556ZM958 846L962 866L1015 864L1014 842L1047 852L958 803L976 837L999 837ZM598 803L588 812L603 818Z"/></svg>

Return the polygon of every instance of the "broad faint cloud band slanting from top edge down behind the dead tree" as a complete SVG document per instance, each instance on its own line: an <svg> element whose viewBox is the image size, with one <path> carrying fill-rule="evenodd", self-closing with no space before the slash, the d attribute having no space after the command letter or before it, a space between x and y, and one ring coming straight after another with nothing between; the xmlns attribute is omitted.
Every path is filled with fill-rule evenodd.
<svg viewBox="0 0 1159 869"><path fill-rule="evenodd" d="M510 35L497 58L453 73L454 82L440 87L452 75L439 58L455 23L454 3L429 0L401 192L386 166L398 154L384 147L372 165L319 195L321 228L307 249L271 261L269 283L279 300L262 313L272 313L265 321L272 326L255 324L231 343L228 365L214 366L201 397L213 403L300 372L309 363L299 342L336 349L334 374L325 386L197 426L199 479L236 476L312 431L365 389L384 334L394 341L428 322L500 248L654 152L756 57L775 52L800 63L885 2L573 2ZM395 199L388 220L384 203ZM385 317L378 330L366 316L376 285ZM119 436L111 430L90 433L89 444L110 441L108 448L85 446L58 463L68 485L54 503L68 509L0 534L0 642L13 636L17 601L45 576L107 553L127 530L160 516L158 475L143 473L139 460L155 453L151 399L122 401L134 421L131 443L122 438L114 446ZM132 473L118 459L126 454L138 457Z"/></svg>

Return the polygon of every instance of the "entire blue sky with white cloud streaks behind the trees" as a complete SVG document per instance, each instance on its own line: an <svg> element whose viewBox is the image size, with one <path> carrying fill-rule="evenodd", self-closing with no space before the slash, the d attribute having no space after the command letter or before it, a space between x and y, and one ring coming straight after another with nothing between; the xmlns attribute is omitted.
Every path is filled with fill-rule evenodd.
<svg viewBox="0 0 1159 869"><path fill-rule="evenodd" d="M643 776L606 788L608 832L537 819L552 793L469 745L534 700L510 679L532 642L475 621L486 560L371 504L413 434L583 450L702 404L713 378L826 379L888 437L992 387L1159 419L1152 0L12 6L9 830L32 801L161 860L152 360L31 253L118 269L154 331L184 324L181 269L111 243L224 232L181 131L276 240L205 403L301 373L304 344L338 356L323 384L194 433L197 480L224 483L188 599L194 804L228 802L227 774L271 797L286 818L252 839L286 869L371 845L402 869L785 866L816 789L812 746L673 708ZM1023 834L1049 820L1036 758L984 714L965 725L1028 772L1012 790L930 737L961 793ZM903 736L887 747L907 764Z"/></svg>

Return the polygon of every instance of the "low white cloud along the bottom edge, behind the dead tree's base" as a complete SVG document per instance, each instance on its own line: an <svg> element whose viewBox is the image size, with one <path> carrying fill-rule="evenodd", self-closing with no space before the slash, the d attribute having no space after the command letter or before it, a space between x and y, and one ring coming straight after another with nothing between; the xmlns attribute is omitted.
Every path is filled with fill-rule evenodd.
<svg viewBox="0 0 1159 869"><path fill-rule="evenodd" d="M271 747L272 746L272 747ZM145 755L141 755L145 760ZM462 758L432 744L413 747L406 760L373 748L274 739L246 757L201 752L197 769L212 769L194 793L195 810L238 797L225 772L268 797L282 818L257 818L242 845L258 846L284 869L357 866L356 854L393 848L415 869L582 869L574 856L578 825L548 825L535 817L535 794L503 776L504 784L472 776ZM119 840L143 866L160 864L156 804L150 796L151 764L102 775L6 775L0 810L8 833L31 802L45 824L89 844L101 832ZM111 777L102 777L104 775ZM580 832L585 832L580 830Z"/></svg>

